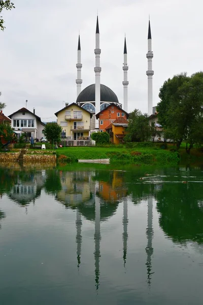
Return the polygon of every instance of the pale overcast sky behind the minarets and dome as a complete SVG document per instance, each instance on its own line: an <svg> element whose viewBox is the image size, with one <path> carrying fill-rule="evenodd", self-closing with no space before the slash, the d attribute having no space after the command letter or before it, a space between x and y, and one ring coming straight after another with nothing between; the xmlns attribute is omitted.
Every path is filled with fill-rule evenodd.
<svg viewBox="0 0 203 305"><path fill-rule="evenodd" d="M98 9L101 83L123 103L123 46L127 41L128 111L147 112L147 34L152 32L153 106L163 82L202 70L201 0L13 0L0 32L0 91L6 115L25 107L56 120L64 102L76 101L77 45L81 35L82 89L94 83Z"/></svg>

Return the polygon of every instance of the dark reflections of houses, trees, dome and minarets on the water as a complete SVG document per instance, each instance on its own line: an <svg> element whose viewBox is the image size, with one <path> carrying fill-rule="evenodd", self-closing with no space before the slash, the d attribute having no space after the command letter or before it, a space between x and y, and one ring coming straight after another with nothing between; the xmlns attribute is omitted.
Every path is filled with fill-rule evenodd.
<svg viewBox="0 0 203 305"><path fill-rule="evenodd" d="M192 173L192 174L191 174ZM141 179L142 178L142 179ZM85 222L94 223L92 239L94 242L94 281L96 291L99 289L102 271L100 270L101 238L104 239L102 225L114 215L122 218L122 257L120 264L126 270L129 256L131 220L130 207L137 208L143 200L147 200L145 244L145 279L149 287L154 283L153 244L155 238L157 214L158 224L168 239L179 244L193 242L193 248L199 251L198 244L203 243L203 200L201 171L187 168L158 169L153 173L138 169L128 171L99 170L97 168L59 171L38 170L18 171L0 169L0 194L7 195L18 206L35 202L46 194L58 202L58 206L74 215L74 246L75 265L78 271L83 263L81 259L84 235L82 228ZM44 195L46 195L44 194ZM120 206L119 206L120 204ZM154 204L154 209L153 209ZM65 207L65 208L64 208ZM119 208L122 207L122 216ZM154 214L153 214L154 211ZM158 213L157 213L158 212ZM0 211L1 222L6 217ZM27 217L27 216L26 216ZM131 220L130 220L131 218ZM130 221L130 223L128 223ZM133 221L132 221L133 222ZM145 231L143 231L145 234ZM129 236L128 236L129 234ZM82 244L83 243L83 244ZM146 248L145 248L146 247ZM103 250L103 251L102 251ZM77 257L77 259L76 259ZM100 273L101 271L101 273Z"/></svg>

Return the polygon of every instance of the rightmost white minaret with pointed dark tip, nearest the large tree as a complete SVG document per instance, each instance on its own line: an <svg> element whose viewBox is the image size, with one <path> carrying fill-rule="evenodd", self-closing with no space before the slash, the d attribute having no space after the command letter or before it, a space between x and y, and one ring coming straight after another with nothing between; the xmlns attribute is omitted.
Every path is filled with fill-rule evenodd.
<svg viewBox="0 0 203 305"><path fill-rule="evenodd" d="M149 20L149 28L148 28L148 52L147 52L147 59L148 59L148 70L146 72L148 76L148 115L153 113L153 91L152 91L152 76L154 75L154 71L152 70L152 36L151 36L151 27L150 27L150 20Z"/></svg>

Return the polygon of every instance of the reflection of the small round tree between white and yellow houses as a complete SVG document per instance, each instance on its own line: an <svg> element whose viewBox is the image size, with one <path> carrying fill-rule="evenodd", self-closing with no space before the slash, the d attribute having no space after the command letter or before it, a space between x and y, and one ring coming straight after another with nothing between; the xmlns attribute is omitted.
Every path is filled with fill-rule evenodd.
<svg viewBox="0 0 203 305"><path fill-rule="evenodd" d="M61 181L57 170L46 171L45 190L48 194L56 194L61 190Z"/></svg>

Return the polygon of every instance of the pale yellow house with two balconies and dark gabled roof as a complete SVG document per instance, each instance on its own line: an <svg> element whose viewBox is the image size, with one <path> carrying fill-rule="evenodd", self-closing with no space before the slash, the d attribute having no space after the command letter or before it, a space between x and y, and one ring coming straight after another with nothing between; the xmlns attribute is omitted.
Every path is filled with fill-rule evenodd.
<svg viewBox="0 0 203 305"><path fill-rule="evenodd" d="M57 111L57 124L62 127L62 138L69 140L90 139L90 118L92 114L76 103Z"/></svg>

